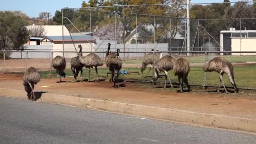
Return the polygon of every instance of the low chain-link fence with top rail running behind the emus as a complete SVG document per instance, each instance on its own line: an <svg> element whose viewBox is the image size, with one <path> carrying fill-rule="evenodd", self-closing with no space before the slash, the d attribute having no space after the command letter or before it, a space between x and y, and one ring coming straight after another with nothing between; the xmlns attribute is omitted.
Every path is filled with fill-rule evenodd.
<svg viewBox="0 0 256 144"><path fill-rule="evenodd" d="M49 51L0 51L0 71L2 72L25 72L29 67L35 67L39 69L42 75L56 74L55 69L51 67L51 60L54 53L62 53L61 51L49 52ZM65 56L76 55L75 52L65 51ZM104 61L105 52L95 52ZM123 73L120 74L120 78L126 81L136 81L141 83L150 83L153 71L150 70L149 65L147 69L141 73L141 65L144 56L152 51L133 51L133 52L120 52L120 58L122 59ZM208 85L218 86L219 74L216 72L203 72L203 65L206 61L213 59L216 56L221 56L224 59L230 61L234 67L235 82L237 86L242 89L256 90L256 51L254 52L219 52L219 51L154 51L154 53L161 53L160 56L172 56L174 58L184 57L190 63L190 72L188 80L190 85ZM187 53L190 55L187 56ZM89 52L83 52L83 56L86 56ZM67 75L73 76L70 66L70 60L72 57L66 57L66 69ZM156 61L155 61L156 62ZM154 64L153 66L154 67ZM93 68L94 69L94 68ZM91 70L92 77L96 78L96 72ZM109 79L109 69L105 63L103 66L98 67L99 75L101 79ZM84 70L83 75L88 76L88 71ZM160 75L164 75L161 73ZM173 74L173 71L169 71L169 76L172 83L178 83L178 78ZM206 81L205 81L206 80ZM159 78L157 82L163 83L164 77ZM224 75L224 82L226 86L232 86L229 83L227 75Z"/></svg>

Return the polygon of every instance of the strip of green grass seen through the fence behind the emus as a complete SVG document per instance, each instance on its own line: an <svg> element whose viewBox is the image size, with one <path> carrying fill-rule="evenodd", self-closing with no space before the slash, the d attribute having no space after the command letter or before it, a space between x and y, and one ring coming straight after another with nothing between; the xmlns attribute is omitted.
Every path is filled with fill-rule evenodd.
<svg viewBox="0 0 256 144"><path fill-rule="evenodd" d="M128 79L128 80L150 80L151 77L144 78L148 72L148 68L144 71L143 75L140 72L140 68L123 68L125 70L129 70L130 72L139 72L138 74L128 74L128 75L120 75L121 79ZM234 72L235 72L235 82L237 84L237 87L239 88L255 88L256 89L256 83L254 80L256 80L256 65L243 65L243 66L234 66ZM73 73L70 69L65 69L66 75L73 76ZM107 68L98 68L99 75L101 76L101 79L109 79L107 78L107 72L109 70ZM49 71L43 71L41 72L43 77L46 76L46 74L49 74ZM53 70L51 74L56 75L56 71ZM152 71L149 72L148 76L152 75ZM161 73L160 75L164 75ZM173 71L169 71L169 76L171 78L172 82L178 83L178 78L173 74ZM88 70L83 69L83 77L88 77ZM96 79L96 72L95 69L91 69L91 78ZM158 82L164 82L164 78L159 78ZM78 78L79 80L79 78ZM189 84L196 84L196 85L203 85L204 81L204 72L202 70L202 67L191 67L189 75L188 75ZM231 86L229 83L227 75L224 75L224 82L226 86ZM208 72L207 73L207 80L206 85L218 85L219 84L219 74L216 72Z"/></svg>

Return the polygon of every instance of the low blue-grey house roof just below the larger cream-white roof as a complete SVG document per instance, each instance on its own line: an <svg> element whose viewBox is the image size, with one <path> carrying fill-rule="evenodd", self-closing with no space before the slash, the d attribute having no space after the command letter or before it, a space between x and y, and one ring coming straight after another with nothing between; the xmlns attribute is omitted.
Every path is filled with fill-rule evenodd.
<svg viewBox="0 0 256 144"><path fill-rule="evenodd" d="M61 42L62 41L62 36L46 36L43 37L43 40L48 39L52 42ZM64 41L94 41L95 39L93 37L91 37L90 35L84 35L84 36L79 36L79 35L75 35L70 37L69 35L64 35Z"/></svg>

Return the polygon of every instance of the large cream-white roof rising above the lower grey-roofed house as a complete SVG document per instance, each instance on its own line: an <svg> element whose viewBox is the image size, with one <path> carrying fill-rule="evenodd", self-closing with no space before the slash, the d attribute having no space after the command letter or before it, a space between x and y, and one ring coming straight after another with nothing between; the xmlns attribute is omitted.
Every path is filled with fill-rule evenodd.
<svg viewBox="0 0 256 144"><path fill-rule="evenodd" d="M44 36L59 36L62 35L62 26L58 25L58 26L52 26L52 25L45 25L45 26L39 26L39 25L30 25L27 26L27 29L31 29L33 27L43 27L45 32L44 32ZM69 35L69 30L67 29L67 27L63 26L63 32L64 35Z"/></svg>

